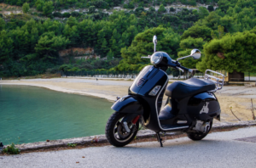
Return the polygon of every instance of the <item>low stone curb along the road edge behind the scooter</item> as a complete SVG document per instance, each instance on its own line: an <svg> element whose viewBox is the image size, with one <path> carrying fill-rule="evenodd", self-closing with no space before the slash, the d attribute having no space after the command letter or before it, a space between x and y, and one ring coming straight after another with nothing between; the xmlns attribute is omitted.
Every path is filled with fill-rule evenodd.
<svg viewBox="0 0 256 168"><path fill-rule="evenodd" d="M236 123L218 123L213 124L212 131L217 129L233 128L233 127L247 127L247 126L256 126L256 120L250 121L240 121ZM166 136L176 136L181 135L184 132L166 132ZM155 132L151 130L141 130L137 133L138 139L154 137ZM67 147L67 143L75 143L77 145L92 144L92 143L108 143L105 135L96 135L89 137L74 137L68 139L60 140L51 140L49 142L38 142L38 143L23 143L20 145L15 145L16 148L19 148L20 151L32 151L43 148L57 148L57 147ZM4 146L6 148L7 145Z"/></svg>

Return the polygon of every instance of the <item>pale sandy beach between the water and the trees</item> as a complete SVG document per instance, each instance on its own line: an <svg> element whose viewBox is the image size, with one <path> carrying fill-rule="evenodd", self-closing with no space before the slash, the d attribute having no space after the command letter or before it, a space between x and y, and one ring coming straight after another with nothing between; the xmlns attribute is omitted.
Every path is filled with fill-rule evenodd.
<svg viewBox="0 0 256 168"><path fill-rule="evenodd" d="M110 101L116 97L123 97L127 94L128 88L133 81L120 80L97 80L96 78L52 78L52 79L27 79L27 80L4 80L0 81L0 85L24 85L34 87L44 87L58 92L75 93L81 95L90 95L100 98L107 98ZM219 104L222 109L222 122L238 121L230 111L232 107L233 113L240 120L252 120L252 104L256 104L256 87L241 86L232 87L224 86L224 88L216 92ZM255 107L255 105L254 105Z"/></svg>

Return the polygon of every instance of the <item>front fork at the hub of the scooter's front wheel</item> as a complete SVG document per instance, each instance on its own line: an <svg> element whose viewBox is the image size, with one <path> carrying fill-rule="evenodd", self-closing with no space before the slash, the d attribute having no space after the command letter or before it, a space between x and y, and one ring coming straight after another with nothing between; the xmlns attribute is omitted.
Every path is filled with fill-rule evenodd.
<svg viewBox="0 0 256 168"><path fill-rule="evenodd" d="M125 128L125 132L130 133L131 130L134 130L134 129L132 129L132 127L136 125L137 120L139 120L140 116L141 116L141 115L132 114L132 113L131 113L131 114L128 114L128 115L125 115L124 119L121 121L121 124L122 124L122 125L124 126L124 128ZM128 125L128 123L130 123L130 122L131 122L132 126L131 126L131 125L130 125L130 126Z"/></svg>

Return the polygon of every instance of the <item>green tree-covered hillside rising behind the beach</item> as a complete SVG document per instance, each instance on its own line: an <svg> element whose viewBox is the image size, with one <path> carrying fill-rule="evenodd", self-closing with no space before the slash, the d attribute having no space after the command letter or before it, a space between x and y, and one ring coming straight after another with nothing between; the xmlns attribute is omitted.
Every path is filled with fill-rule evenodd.
<svg viewBox="0 0 256 168"><path fill-rule="evenodd" d="M158 34L163 41L158 48L175 59L190 48L203 50L204 44L226 33L255 26L254 0L26 2L0 1L0 76L34 76L45 70L140 70L146 62L138 58L150 54L152 47L145 34ZM144 47L138 45L140 38ZM73 51L69 48L93 48L94 58L105 59L73 52L63 59L59 53ZM183 64L195 68L197 62Z"/></svg>

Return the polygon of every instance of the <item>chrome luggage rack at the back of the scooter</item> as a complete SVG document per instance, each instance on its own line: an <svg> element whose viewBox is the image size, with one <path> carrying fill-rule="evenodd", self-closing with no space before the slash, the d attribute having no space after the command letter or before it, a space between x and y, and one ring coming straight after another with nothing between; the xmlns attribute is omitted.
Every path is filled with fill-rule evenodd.
<svg viewBox="0 0 256 168"><path fill-rule="evenodd" d="M222 76L222 79L218 78L218 77L215 77L215 76L211 76L211 75L207 74L207 72L212 72L214 74L217 74L218 76ZM216 71L213 71L213 70L206 70L204 79L208 80L208 81L212 81L216 85L215 89L212 90L212 91L209 91L209 92L216 92L216 91L222 89L222 87L224 86L224 75L219 73L219 72L216 72Z"/></svg>

